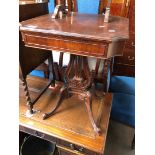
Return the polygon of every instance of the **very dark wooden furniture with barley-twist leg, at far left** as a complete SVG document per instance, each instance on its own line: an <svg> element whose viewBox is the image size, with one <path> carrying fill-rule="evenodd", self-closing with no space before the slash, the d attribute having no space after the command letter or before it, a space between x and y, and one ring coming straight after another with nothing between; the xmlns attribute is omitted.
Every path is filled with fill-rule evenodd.
<svg viewBox="0 0 155 155"><path fill-rule="evenodd" d="M34 18L37 16L41 16L44 14L48 14L48 3L47 1L44 1L42 3L36 3L34 1L20 1L19 2L19 21L27 20L30 18ZM23 82L23 85L25 86L25 95L27 100L27 106L28 106L28 114L33 113L33 105L34 103L39 99L39 97L42 95L42 93L36 97L34 101L32 101L30 94L29 94L29 88L26 81L27 75L40 66L44 61L48 59L49 62L49 71L50 75L49 78L51 79L50 83L47 85L47 87L42 91L42 93L48 88L48 86L52 83L54 83L54 76L53 75L53 57L52 53L49 50L42 50L42 49L34 49L30 47L25 47L24 42L22 41L21 33L19 33L19 73L20 73L20 79ZM45 69L44 69L45 68ZM46 77L48 77L48 67L43 64L39 69L43 69L45 72Z"/></svg>

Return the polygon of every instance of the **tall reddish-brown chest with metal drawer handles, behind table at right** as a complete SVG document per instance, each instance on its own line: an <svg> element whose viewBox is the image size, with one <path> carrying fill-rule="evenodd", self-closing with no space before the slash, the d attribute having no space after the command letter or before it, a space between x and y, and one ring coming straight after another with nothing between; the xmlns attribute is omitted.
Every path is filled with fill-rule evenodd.
<svg viewBox="0 0 155 155"><path fill-rule="evenodd" d="M121 0L111 4L111 14L129 19L129 40L125 42L123 56L115 57L113 75L135 76L135 0Z"/></svg>

